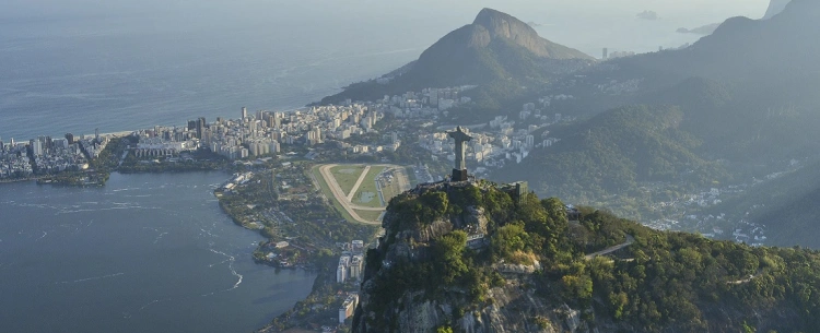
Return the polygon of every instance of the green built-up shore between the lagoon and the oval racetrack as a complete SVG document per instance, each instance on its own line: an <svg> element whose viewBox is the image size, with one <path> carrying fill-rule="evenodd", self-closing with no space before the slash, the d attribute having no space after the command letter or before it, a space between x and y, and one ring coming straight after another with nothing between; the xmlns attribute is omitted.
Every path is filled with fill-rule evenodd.
<svg viewBox="0 0 820 333"><path fill-rule="evenodd" d="M377 234L375 226L351 223L328 204L312 181L312 169L325 162L273 159L234 175L247 181L227 180L214 190L222 211L233 223L256 230L268 239L254 251L257 264L277 270L301 269L317 274L313 290L294 304L290 311L271 318L257 332L286 332L290 329L338 326L338 308L347 294L358 290L353 282L337 282L340 242L363 239L370 243ZM276 175L276 180L273 176ZM292 192L274 183L296 186ZM281 190L281 191L280 191ZM293 197L293 192L304 193Z"/></svg>

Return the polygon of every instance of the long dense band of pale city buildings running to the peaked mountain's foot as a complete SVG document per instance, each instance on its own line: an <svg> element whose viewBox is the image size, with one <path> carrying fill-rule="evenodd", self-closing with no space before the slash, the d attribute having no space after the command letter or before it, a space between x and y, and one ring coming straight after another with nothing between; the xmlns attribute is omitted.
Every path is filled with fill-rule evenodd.
<svg viewBox="0 0 820 333"><path fill-rule="evenodd" d="M341 105L315 106L291 112L258 110L249 114L247 108L242 108L239 119L216 118L215 122L209 123L204 118L198 118L189 120L187 127L154 127L137 131L134 134L140 141L134 154L138 157L174 156L185 151L208 148L231 159L242 159L281 153L282 144L309 146L329 141L333 141L339 148L351 154L396 151L401 145L397 133L387 134L389 136L380 144L348 144L342 141L373 132L376 123L387 114L398 119L437 119L441 112L470 103L470 97L462 94L475 87L466 85L425 88L420 93L386 95L375 102L345 100ZM535 111L532 105L530 112ZM538 117L541 117L540 114ZM541 143L541 140L535 136L529 140L517 136L502 139L502 142L507 141L506 146L513 148L520 148L527 143L535 146L536 141ZM516 141L520 141L522 144ZM482 143L477 153L473 153L473 156L478 156L478 160L483 160L493 150L489 143ZM520 160L526 155L527 151L520 151L509 158Z"/></svg>

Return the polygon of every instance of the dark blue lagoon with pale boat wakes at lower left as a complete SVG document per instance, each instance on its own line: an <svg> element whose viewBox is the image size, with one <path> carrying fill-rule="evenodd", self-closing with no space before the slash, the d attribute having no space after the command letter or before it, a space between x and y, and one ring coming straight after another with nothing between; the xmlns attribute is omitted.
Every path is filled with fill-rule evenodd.
<svg viewBox="0 0 820 333"><path fill-rule="evenodd" d="M0 185L0 331L250 332L290 309L315 275L253 262L262 237L211 193L226 177Z"/></svg>

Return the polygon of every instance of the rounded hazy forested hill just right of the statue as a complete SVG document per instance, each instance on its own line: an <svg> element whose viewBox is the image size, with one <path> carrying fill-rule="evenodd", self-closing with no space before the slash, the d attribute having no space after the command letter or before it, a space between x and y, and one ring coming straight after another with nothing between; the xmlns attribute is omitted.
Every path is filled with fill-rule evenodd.
<svg viewBox="0 0 820 333"><path fill-rule="evenodd" d="M594 198L635 192L642 181L708 186L729 177L714 162L700 157L703 143L681 130L684 114L673 106L628 106L564 128L562 141L524 163L493 175L529 175L539 192L588 202ZM535 171L538 170L538 171Z"/></svg>

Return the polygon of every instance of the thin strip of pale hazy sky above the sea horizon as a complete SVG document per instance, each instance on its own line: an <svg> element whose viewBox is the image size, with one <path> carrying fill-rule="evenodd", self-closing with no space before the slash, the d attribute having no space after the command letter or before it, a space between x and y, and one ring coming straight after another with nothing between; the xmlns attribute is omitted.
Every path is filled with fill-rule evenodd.
<svg viewBox="0 0 820 333"><path fill-rule="evenodd" d="M653 10L661 17L746 15L754 19L762 16L769 4L768 0L3 0L2 2L4 14L0 15L3 16L96 14L112 10L154 10L156 7L167 9L180 5L211 7L216 4L219 7L221 3L235 7L276 3L282 11L313 7L317 13L333 12L351 16L371 15L378 12L390 16L402 12L408 14L427 12L433 16L447 11L462 11L471 14L483 7L491 7L517 14L554 12L609 16ZM296 11L301 12L301 10Z"/></svg>

